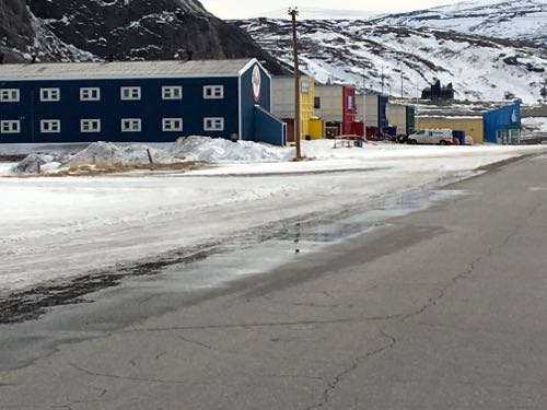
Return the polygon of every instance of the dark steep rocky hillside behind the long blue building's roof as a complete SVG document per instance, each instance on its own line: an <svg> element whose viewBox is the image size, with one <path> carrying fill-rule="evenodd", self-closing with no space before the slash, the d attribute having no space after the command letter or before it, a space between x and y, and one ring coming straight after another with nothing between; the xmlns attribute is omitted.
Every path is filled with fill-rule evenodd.
<svg viewBox="0 0 547 410"><path fill-rule="evenodd" d="M82 61L257 57L278 62L197 0L0 0L0 47L28 59ZM5 52L5 51L4 51Z"/></svg>

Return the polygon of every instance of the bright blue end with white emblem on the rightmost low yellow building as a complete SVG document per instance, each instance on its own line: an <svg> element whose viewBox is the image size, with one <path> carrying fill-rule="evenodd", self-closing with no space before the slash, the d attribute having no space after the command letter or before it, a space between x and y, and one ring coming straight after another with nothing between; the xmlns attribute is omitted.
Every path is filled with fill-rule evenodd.
<svg viewBox="0 0 547 410"><path fill-rule="evenodd" d="M521 138L521 105L511 104L482 114L485 141L517 144Z"/></svg>

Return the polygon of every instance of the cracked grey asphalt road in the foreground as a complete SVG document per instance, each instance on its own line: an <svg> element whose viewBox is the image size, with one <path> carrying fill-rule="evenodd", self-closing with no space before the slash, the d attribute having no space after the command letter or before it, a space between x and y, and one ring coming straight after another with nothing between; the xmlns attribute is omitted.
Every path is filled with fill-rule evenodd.
<svg viewBox="0 0 547 410"><path fill-rule="evenodd" d="M451 189L468 195L2 372L0 409L544 410L547 156Z"/></svg>

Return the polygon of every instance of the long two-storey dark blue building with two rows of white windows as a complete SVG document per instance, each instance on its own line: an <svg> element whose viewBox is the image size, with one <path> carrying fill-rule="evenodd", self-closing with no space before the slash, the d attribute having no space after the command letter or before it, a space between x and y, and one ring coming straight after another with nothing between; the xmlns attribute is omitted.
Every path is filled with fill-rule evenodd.
<svg viewBox="0 0 547 410"><path fill-rule="evenodd" d="M0 65L0 143L171 142L208 136L284 144L256 59Z"/></svg>

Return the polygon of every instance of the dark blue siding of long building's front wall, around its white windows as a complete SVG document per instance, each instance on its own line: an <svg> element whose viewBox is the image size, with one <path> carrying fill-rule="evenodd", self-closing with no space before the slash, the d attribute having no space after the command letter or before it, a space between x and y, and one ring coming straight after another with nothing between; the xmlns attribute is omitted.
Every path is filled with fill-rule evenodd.
<svg viewBox="0 0 547 410"><path fill-rule="evenodd" d="M162 99L163 85L182 85L183 99ZM224 98L205 99L203 85L223 85ZM120 87L140 86L140 101L121 101ZM40 102L40 87L60 89L59 102ZM80 87L100 87L100 102L81 102ZM0 120L21 119L21 133L0 142L170 142L183 136L230 138L238 133L237 78L0 81L19 89L19 103L0 103ZM205 117L223 117L224 131L205 131ZM80 119L101 119L101 132L80 132ZM141 132L121 132L121 118L141 118ZM183 118L183 131L164 132L162 118ZM60 119L60 133L40 133L42 119Z"/></svg>

